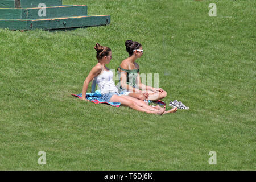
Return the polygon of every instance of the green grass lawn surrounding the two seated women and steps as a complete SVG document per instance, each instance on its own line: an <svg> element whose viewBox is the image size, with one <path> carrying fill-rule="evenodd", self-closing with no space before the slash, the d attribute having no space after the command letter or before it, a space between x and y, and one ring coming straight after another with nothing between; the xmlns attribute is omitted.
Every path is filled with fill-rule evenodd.
<svg viewBox="0 0 256 182"><path fill-rule="evenodd" d="M0 30L1 170L255 170L255 1L63 2L111 23ZM159 73L163 101L191 110L158 116L70 95L96 64L96 42L115 69L129 39L143 45L141 73Z"/></svg>

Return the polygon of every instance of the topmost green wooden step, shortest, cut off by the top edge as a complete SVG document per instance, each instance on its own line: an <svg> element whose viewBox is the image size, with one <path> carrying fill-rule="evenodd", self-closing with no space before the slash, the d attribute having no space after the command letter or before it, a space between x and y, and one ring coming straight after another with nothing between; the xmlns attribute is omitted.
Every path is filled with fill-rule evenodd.
<svg viewBox="0 0 256 182"><path fill-rule="evenodd" d="M46 7L61 6L62 0L0 0L0 7L29 8L38 7L39 3L44 3Z"/></svg>

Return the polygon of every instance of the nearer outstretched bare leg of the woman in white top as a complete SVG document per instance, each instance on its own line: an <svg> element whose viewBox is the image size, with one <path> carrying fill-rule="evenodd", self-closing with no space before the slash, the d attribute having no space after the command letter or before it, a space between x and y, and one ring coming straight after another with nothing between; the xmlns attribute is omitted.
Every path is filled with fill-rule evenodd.
<svg viewBox="0 0 256 182"><path fill-rule="evenodd" d="M131 109L138 110L138 111L141 111L141 112L144 112L144 113L150 113L150 114L162 115L165 111L165 108L163 108L162 110L155 110L155 111L148 110L144 107L139 106L136 102L131 101L131 100L129 100L129 99L123 97L123 96L118 96L118 95L113 95L110 98L110 102L121 102L122 105L128 106Z"/></svg>

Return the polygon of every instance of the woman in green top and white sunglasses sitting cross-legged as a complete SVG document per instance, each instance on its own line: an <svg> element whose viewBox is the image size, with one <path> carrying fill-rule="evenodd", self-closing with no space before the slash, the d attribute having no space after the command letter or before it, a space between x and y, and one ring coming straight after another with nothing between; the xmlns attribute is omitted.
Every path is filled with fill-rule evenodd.
<svg viewBox="0 0 256 182"><path fill-rule="evenodd" d="M121 92L130 92L128 96L141 100L157 101L166 97L167 93L162 88L154 88L141 82L139 64L135 61L143 55L142 44L127 40L125 46L129 57L123 60L117 69Z"/></svg>

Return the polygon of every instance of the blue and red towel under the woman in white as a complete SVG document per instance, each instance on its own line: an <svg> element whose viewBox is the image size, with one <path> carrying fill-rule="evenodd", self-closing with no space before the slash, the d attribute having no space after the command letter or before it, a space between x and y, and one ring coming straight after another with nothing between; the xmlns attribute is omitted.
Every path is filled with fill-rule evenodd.
<svg viewBox="0 0 256 182"><path fill-rule="evenodd" d="M82 94L71 94L72 96L82 98ZM88 99L90 102L93 102L94 104L109 104L113 107L120 107L121 103L120 102L106 102L101 99L101 91L96 90L93 93L86 93L86 99Z"/></svg>

